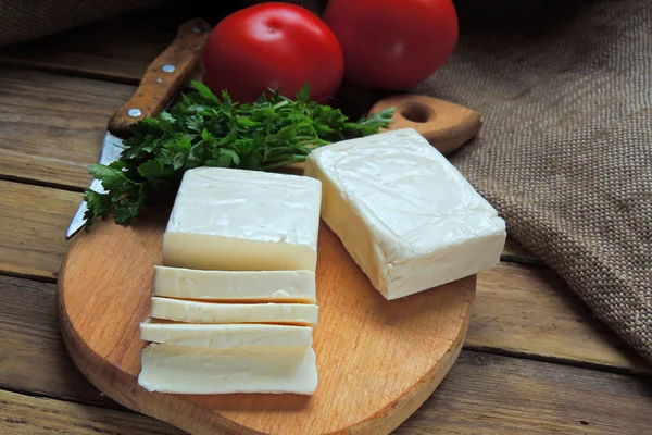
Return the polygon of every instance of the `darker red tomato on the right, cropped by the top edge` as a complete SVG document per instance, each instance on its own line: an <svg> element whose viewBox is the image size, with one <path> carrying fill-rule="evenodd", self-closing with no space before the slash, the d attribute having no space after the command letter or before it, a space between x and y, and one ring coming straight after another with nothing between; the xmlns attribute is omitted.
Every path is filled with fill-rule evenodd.
<svg viewBox="0 0 652 435"><path fill-rule="evenodd" d="M368 88L417 85L457 42L451 0L330 0L324 21L344 52L344 77Z"/></svg>

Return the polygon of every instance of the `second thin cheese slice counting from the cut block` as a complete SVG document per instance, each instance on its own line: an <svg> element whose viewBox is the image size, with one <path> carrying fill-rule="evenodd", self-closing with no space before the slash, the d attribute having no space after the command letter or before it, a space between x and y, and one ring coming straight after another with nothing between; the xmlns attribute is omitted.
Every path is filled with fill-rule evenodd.
<svg viewBox="0 0 652 435"><path fill-rule="evenodd" d="M210 303L152 297L150 316L188 323L316 325L318 307L308 303Z"/></svg>

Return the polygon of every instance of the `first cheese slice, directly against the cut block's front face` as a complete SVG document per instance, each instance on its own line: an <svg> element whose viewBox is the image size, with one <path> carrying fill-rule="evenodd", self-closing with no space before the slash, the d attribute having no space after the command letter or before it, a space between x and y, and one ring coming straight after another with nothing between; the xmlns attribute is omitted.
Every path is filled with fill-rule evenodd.
<svg viewBox="0 0 652 435"><path fill-rule="evenodd" d="M154 266L154 296L315 303L312 271L200 271Z"/></svg>

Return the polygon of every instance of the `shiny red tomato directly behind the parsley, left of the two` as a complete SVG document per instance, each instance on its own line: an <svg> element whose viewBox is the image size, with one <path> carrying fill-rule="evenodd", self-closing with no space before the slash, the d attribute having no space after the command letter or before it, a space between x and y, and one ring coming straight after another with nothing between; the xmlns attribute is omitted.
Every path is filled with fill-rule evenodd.
<svg viewBox="0 0 652 435"><path fill-rule="evenodd" d="M310 84L319 101L338 90L343 55L328 26L309 10L262 3L222 20L206 40L203 82L217 95L228 90L239 102L254 101L267 88L294 94Z"/></svg>

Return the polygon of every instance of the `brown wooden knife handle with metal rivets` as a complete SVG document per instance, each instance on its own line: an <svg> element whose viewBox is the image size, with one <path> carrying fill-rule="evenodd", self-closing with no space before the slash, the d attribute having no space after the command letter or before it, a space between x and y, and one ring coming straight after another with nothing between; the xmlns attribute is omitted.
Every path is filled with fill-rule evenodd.
<svg viewBox="0 0 652 435"><path fill-rule="evenodd" d="M109 132L127 137L129 125L159 114L193 72L210 33L211 26L201 18L184 23L170 46L147 67L134 96L111 117Z"/></svg>

